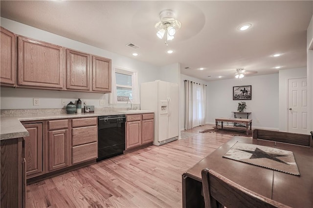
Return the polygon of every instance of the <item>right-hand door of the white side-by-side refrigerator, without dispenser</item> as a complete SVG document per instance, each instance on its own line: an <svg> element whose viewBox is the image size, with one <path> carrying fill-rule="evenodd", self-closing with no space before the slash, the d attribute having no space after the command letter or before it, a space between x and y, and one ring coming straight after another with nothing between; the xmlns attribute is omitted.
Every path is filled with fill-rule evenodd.
<svg viewBox="0 0 313 208"><path fill-rule="evenodd" d="M168 138L177 137L179 133L178 120L178 84L168 83L168 97L169 97L169 115L168 115Z"/></svg>

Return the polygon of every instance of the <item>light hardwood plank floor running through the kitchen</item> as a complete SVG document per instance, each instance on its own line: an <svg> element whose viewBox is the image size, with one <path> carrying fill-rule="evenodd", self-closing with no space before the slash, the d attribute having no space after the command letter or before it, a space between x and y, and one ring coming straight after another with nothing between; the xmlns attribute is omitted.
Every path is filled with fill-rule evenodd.
<svg viewBox="0 0 313 208"><path fill-rule="evenodd" d="M103 160L26 188L26 208L181 208L181 175L232 136L199 133Z"/></svg>

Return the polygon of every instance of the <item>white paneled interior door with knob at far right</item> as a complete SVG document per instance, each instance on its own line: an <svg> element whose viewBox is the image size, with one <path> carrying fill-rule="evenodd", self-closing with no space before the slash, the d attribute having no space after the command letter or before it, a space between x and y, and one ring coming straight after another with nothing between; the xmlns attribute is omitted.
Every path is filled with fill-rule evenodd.
<svg viewBox="0 0 313 208"><path fill-rule="evenodd" d="M307 79L288 80L288 132L308 133Z"/></svg>

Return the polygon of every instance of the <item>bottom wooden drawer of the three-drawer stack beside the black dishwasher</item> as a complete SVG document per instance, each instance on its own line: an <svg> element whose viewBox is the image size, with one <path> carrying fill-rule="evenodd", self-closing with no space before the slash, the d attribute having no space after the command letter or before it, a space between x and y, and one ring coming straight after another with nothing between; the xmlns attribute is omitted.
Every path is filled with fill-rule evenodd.
<svg viewBox="0 0 313 208"><path fill-rule="evenodd" d="M97 143L90 143L86 145L80 145L80 146L73 146L72 147L72 163L80 163L84 161L88 161L91 159L96 159L98 152L97 152Z"/></svg>

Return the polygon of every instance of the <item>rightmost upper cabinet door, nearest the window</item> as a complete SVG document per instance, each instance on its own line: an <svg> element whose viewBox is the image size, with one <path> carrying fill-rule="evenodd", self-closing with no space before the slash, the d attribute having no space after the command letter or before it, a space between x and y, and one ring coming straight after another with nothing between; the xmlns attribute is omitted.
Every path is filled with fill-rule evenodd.
<svg viewBox="0 0 313 208"><path fill-rule="evenodd" d="M92 56L92 91L111 92L111 59Z"/></svg>

